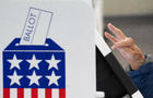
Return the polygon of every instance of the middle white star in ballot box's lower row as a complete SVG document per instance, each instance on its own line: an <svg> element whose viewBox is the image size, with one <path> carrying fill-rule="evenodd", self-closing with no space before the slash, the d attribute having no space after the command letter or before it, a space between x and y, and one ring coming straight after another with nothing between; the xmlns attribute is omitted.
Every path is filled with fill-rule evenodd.
<svg viewBox="0 0 153 98"><path fill-rule="evenodd" d="M39 85L38 79L42 76L37 76L36 73L35 73L35 71L33 72L33 75L27 76L27 77L31 79L30 86L33 85L33 84Z"/></svg>

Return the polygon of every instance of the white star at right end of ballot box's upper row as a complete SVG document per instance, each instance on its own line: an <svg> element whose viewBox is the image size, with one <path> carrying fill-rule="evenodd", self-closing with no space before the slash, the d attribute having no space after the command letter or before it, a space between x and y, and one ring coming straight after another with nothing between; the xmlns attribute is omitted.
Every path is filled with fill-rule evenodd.
<svg viewBox="0 0 153 98"><path fill-rule="evenodd" d="M50 59L50 60L46 60L46 61L49 63L48 70L50 70L50 69L52 69L52 68L55 68L55 69L58 70L57 64L58 64L61 60L56 60L56 59L55 59L55 56L52 54L51 59Z"/></svg>

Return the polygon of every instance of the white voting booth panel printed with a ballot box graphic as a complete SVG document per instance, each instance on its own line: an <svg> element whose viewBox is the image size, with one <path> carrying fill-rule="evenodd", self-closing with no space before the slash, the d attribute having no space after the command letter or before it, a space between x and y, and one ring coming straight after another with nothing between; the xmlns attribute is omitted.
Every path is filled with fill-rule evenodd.
<svg viewBox="0 0 153 98"><path fill-rule="evenodd" d="M95 98L89 3L2 0L0 8L0 98Z"/></svg>

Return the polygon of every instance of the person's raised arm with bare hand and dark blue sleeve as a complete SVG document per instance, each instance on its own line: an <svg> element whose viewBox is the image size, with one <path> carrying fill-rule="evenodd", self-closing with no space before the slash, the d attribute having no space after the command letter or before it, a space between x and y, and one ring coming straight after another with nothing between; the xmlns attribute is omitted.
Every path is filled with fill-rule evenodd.
<svg viewBox="0 0 153 98"><path fill-rule="evenodd" d="M111 24L107 25L115 36L105 33L105 36L114 42L113 50L117 49L130 63L134 71L129 72L132 82L140 89L144 98L153 98L153 59L150 54L143 54L133 39Z"/></svg>

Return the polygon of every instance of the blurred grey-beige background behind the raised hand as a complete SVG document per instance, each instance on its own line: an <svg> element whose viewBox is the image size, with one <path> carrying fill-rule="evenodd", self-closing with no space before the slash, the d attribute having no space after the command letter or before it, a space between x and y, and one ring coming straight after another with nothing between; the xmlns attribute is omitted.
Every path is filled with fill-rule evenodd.
<svg viewBox="0 0 153 98"><path fill-rule="evenodd" d="M94 7L102 36L107 23L113 23L132 37L144 53L153 56L153 0L94 0ZM102 23L104 28L99 27ZM106 41L111 46L108 39ZM126 69L128 62L118 51L114 54Z"/></svg>

